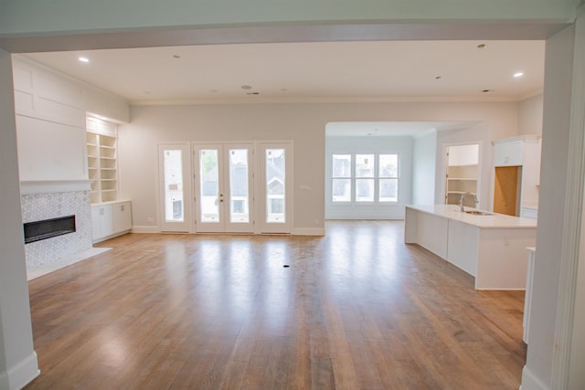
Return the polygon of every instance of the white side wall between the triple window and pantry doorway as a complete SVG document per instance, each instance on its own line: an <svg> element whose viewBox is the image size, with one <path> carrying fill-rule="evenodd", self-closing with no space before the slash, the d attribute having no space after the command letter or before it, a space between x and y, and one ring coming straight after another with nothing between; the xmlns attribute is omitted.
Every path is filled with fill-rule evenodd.
<svg viewBox="0 0 585 390"><path fill-rule="evenodd" d="M412 147L412 204L435 204L436 164L437 132L415 137Z"/></svg>

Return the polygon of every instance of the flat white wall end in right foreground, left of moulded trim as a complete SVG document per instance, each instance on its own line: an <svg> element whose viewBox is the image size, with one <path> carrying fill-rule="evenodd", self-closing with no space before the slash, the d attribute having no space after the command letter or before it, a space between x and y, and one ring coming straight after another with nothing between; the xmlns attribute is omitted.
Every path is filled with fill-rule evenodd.
<svg viewBox="0 0 585 390"><path fill-rule="evenodd" d="M580 188L571 188L569 179L569 167L575 163L570 147L574 33L575 27L569 26L547 39L537 252L522 390L552 388L564 234L566 227L580 223L575 213L564 212L570 198L580 199Z"/></svg>

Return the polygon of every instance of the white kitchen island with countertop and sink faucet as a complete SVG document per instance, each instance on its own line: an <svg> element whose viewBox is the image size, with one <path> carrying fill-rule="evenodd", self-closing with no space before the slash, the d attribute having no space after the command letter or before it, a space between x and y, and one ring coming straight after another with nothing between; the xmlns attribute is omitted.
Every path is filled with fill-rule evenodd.
<svg viewBox="0 0 585 390"><path fill-rule="evenodd" d="M453 205L406 206L404 241L471 274L476 290L525 290L527 247L536 240L536 219L468 214Z"/></svg>

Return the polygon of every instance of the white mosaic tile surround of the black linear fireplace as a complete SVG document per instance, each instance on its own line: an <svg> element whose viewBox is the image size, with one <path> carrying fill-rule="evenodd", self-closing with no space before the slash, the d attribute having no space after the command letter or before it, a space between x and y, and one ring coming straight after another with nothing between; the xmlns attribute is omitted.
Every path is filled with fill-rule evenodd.
<svg viewBox="0 0 585 390"><path fill-rule="evenodd" d="M21 206L23 223L71 215L76 222L75 233L26 244L27 270L47 267L93 247L89 191L21 195Z"/></svg>

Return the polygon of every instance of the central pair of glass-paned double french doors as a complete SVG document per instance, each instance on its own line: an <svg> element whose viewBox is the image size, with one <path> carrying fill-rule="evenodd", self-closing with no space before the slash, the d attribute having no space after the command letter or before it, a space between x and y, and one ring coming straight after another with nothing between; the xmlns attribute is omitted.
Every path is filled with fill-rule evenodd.
<svg viewBox="0 0 585 390"><path fill-rule="evenodd" d="M250 143L193 146L197 233L254 233Z"/></svg>

